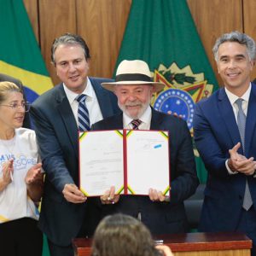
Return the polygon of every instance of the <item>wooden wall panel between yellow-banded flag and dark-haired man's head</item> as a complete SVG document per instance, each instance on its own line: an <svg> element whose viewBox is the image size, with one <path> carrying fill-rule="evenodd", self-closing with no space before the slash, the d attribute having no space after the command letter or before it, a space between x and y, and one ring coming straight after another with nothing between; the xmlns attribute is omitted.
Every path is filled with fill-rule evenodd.
<svg viewBox="0 0 256 256"><path fill-rule="evenodd" d="M54 39L65 32L77 32L75 0L39 0L39 31L41 51L54 84L59 83L55 67L50 63Z"/></svg>

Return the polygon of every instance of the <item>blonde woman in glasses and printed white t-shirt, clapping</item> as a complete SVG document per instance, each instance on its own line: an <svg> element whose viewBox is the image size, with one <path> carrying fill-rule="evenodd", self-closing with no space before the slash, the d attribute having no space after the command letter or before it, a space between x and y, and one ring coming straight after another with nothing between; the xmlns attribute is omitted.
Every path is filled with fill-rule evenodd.
<svg viewBox="0 0 256 256"><path fill-rule="evenodd" d="M43 193L35 132L21 128L29 104L20 88L0 82L0 254L41 256L37 202Z"/></svg>

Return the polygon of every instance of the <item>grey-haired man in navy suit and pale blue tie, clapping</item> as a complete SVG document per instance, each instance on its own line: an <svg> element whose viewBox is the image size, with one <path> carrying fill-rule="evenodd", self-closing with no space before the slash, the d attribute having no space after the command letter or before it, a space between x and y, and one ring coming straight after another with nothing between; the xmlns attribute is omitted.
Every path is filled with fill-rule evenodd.
<svg viewBox="0 0 256 256"><path fill-rule="evenodd" d="M218 38L213 54L224 88L195 108L195 144L208 171L201 231L243 231L256 244L255 43L240 32Z"/></svg>

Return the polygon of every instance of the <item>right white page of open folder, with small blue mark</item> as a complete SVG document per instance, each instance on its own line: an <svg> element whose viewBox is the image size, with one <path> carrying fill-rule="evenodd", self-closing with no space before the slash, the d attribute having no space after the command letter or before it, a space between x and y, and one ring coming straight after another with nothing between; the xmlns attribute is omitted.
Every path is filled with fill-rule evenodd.
<svg viewBox="0 0 256 256"><path fill-rule="evenodd" d="M148 195L150 188L166 190L169 187L168 133L131 131L126 144L129 194Z"/></svg>

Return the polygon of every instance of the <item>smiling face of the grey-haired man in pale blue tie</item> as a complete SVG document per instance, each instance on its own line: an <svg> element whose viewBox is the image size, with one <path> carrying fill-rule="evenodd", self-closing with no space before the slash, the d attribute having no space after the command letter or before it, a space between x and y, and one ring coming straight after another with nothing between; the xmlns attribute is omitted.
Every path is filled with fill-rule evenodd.
<svg viewBox="0 0 256 256"><path fill-rule="evenodd" d="M247 47L236 42L225 42L218 47L218 73L224 86L236 96L242 96L250 84L253 61L247 54Z"/></svg>

